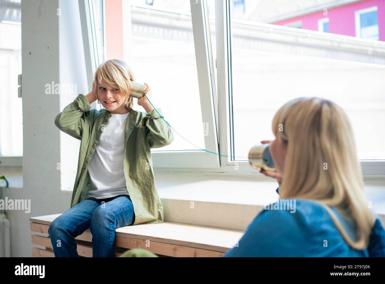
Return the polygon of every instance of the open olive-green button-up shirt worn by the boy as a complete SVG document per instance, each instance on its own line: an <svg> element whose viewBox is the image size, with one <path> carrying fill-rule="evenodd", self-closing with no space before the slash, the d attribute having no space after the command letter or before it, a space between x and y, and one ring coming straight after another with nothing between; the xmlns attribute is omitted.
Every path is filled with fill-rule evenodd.
<svg viewBox="0 0 385 284"><path fill-rule="evenodd" d="M79 94L55 117L55 125L60 130L81 140L70 207L87 198L87 192L91 189L88 166L100 134L111 117L104 108L99 111L90 108L87 97ZM156 110L163 117L161 109ZM169 145L174 136L171 127L156 110L146 113L131 108L127 116L123 166L127 193L134 205L133 225L163 223L163 205L155 185L150 149Z"/></svg>

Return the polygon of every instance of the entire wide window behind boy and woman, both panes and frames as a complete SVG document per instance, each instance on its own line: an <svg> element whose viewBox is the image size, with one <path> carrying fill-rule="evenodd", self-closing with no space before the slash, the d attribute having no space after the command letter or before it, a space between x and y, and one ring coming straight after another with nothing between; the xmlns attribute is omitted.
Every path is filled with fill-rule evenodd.
<svg viewBox="0 0 385 284"><path fill-rule="evenodd" d="M171 145L152 150L154 167L220 166L212 171L226 172L239 165L239 171L254 172L248 152L273 138L278 108L299 96L319 96L348 114L363 172L385 173L385 43L381 35L373 44L355 37L344 2L103 3L104 59L124 59L136 81L149 83L152 103L174 129ZM114 21L119 9L121 22ZM329 27L329 21L335 24Z"/></svg>

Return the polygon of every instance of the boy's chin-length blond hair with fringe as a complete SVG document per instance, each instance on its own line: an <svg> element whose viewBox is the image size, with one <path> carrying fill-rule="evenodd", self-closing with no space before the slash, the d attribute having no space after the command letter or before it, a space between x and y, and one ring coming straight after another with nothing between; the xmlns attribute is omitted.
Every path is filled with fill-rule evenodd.
<svg viewBox="0 0 385 284"><path fill-rule="evenodd" d="M126 97L124 105L127 109L131 109L134 105L134 100L130 95L131 81L135 81L134 73L131 68L120 59L109 59L104 61L95 71L94 84L98 85L104 81L122 91L122 95ZM97 102L100 103L96 92Z"/></svg>

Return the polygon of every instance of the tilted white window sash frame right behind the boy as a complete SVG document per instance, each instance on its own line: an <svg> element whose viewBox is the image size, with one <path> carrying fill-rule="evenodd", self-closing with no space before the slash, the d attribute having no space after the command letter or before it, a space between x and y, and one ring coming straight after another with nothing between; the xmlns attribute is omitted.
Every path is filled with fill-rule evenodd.
<svg viewBox="0 0 385 284"><path fill-rule="evenodd" d="M206 0L190 0L190 7L202 122L207 123L208 130L204 136L205 150L152 151L152 161L156 168L218 170L218 106L208 7Z"/></svg>

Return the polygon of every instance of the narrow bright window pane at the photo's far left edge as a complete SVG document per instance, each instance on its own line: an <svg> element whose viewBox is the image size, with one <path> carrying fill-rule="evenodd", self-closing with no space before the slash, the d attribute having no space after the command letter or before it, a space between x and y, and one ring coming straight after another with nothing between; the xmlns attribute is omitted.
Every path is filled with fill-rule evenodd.
<svg viewBox="0 0 385 284"><path fill-rule="evenodd" d="M0 2L0 156L23 155L20 0Z"/></svg>

